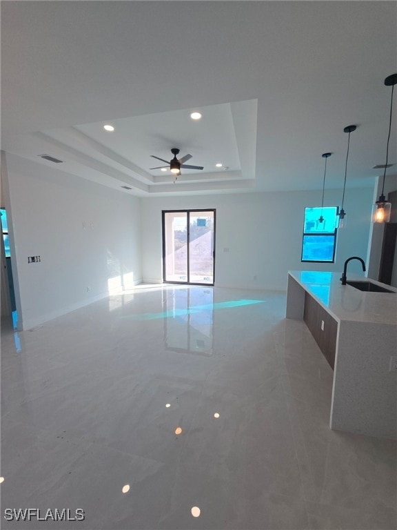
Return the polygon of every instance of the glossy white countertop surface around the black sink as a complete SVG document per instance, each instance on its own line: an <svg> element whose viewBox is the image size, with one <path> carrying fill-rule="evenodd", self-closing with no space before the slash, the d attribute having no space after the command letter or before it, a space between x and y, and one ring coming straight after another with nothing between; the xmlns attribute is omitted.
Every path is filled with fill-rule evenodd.
<svg viewBox="0 0 397 530"><path fill-rule="evenodd" d="M371 322L397 325L397 289L371 278L349 273L349 280L370 280L395 293L368 293L350 285L342 285L342 273L289 271L288 274L312 295L339 322Z"/></svg>

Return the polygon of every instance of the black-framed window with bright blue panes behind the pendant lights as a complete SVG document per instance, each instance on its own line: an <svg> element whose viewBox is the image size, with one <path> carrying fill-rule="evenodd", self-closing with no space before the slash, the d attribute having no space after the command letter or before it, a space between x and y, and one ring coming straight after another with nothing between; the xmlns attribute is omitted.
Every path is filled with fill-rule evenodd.
<svg viewBox="0 0 397 530"><path fill-rule="evenodd" d="M319 222L323 215L323 222ZM302 262L334 263L336 248L337 206L305 208Z"/></svg>

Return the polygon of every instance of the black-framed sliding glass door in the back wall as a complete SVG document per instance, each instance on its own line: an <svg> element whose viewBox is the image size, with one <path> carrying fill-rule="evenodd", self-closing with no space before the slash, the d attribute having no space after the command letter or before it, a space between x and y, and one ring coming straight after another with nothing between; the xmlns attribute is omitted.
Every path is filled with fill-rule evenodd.
<svg viewBox="0 0 397 530"><path fill-rule="evenodd" d="M163 211L164 282L214 285L215 210Z"/></svg>

